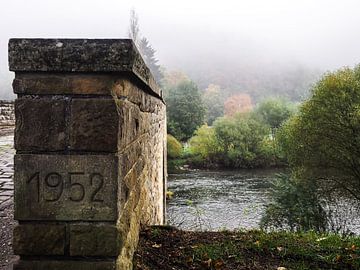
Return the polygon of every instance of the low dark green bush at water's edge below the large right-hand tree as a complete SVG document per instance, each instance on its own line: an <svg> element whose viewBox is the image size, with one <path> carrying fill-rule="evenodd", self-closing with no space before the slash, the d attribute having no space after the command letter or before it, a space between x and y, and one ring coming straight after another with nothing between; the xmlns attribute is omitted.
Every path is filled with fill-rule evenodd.
<svg viewBox="0 0 360 270"><path fill-rule="evenodd" d="M290 231L327 231L331 221L317 191L312 181L278 175L272 183L271 203L267 205L261 226Z"/></svg>

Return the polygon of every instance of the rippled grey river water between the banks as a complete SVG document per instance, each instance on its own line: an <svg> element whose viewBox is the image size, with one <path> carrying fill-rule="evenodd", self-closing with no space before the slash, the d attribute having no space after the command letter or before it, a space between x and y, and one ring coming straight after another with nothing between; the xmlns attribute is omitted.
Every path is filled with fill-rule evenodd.
<svg viewBox="0 0 360 270"><path fill-rule="evenodd" d="M259 228L269 202L271 181L279 170L189 171L170 174L168 223L182 229L221 230ZM360 233L359 215L342 202L340 214L353 232Z"/></svg>

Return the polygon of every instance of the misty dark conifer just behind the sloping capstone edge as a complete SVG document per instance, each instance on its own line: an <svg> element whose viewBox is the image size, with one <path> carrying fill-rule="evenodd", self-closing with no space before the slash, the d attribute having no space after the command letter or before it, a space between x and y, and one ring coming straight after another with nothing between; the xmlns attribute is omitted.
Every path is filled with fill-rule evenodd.
<svg viewBox="0 0 360 270"><path fill-rule="evenodd" d="M150 68L156 82L160 83L163 78L163 74L160 71L160 65L157 64L158 60L155 57L156 51L151 47L146 37L140 39L139 50L146 65Z"/></svg>

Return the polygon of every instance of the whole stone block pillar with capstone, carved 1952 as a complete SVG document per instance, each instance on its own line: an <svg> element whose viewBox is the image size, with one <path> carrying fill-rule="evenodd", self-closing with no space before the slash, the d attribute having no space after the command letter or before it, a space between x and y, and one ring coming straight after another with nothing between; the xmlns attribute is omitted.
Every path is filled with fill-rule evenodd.
<svg viewBox="0 0 360 270"><path fill-rule="evenodd" d="M131 40L11 39L14 269L131 269L162 224L166 113Z"/></svg>

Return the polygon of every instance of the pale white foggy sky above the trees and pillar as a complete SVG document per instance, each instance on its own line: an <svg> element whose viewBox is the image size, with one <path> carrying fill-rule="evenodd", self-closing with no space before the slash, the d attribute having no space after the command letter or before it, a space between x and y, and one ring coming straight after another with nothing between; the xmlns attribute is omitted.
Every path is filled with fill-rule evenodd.
<svg viewBox="0 0 360 270"><path fill-rule="evenodd" d="M132 8L159 63L201 88L218 77L246 88L286 70L319 73L360 63L357 0L1 0L0 98L13 98L9 38L124 38Z"/></svg>

